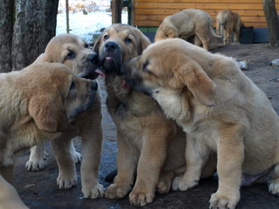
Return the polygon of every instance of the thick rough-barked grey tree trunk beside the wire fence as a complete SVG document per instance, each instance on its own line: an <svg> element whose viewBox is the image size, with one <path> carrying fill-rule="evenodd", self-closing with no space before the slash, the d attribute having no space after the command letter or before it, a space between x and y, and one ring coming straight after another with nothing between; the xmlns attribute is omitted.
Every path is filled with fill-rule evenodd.
<svg viewBox="0 0 279 209"><path fill-rule="evenodd" d="M33 63L55 36L59 0L15 0L13 71Z"/></svg>

